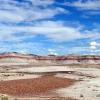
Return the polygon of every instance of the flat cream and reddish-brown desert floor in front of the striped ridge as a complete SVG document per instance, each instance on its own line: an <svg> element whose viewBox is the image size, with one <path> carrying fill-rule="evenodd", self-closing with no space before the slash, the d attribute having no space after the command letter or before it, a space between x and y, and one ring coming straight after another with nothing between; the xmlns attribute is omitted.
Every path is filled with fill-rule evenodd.
<svg viewBox="0 0 100 100"><path fill-rule="evenodd" d="M9 100L100 100L100 69L3 66L0 93Z"/></svg>

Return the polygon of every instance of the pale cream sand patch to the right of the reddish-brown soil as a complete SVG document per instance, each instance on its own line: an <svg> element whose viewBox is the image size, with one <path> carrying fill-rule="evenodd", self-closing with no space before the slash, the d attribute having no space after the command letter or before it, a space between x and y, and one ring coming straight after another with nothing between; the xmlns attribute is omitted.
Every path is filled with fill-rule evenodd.
<svg viewBox="0 0 100 100"><path fill-rule="evenodd" d="M73 97L78 100L100 100L100 69L83 68L76 70L97 76L96 78L82 77L80 81L68 88L57 89L56 92L63 97ZM77 77L77 76L75 76ZM78 76L79 77L79 76ZM77 78L78 78L77 77ZM73 77L74 78L74 77Z"/></svg>

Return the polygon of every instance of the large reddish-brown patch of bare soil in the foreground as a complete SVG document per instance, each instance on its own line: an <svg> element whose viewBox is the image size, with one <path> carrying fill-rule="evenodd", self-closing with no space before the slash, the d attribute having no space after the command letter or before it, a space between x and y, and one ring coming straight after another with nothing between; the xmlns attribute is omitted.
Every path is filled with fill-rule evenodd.
<svg viewBox="0 0 100 100"><path fill-rule="evenodd" d="M54 76L42 76L35 79L20 79L0 81L0 93L11 96L34 96L48 93L54 89L68 87L76 80L58 78ZM69 99L70 100L70 99Z"/></svg>

